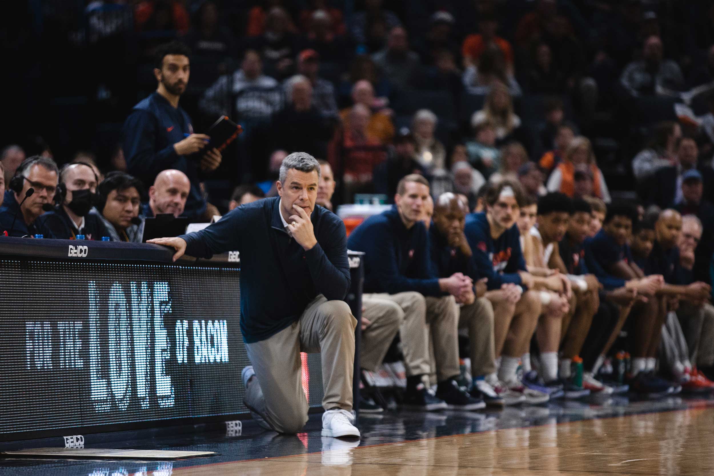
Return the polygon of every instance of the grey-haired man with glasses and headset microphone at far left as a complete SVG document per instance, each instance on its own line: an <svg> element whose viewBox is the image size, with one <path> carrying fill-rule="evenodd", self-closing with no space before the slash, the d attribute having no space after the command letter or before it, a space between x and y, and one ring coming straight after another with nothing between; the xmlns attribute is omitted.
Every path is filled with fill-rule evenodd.
<svg viewBox="0 0 714 476"><path fill-rule="evenodd" d="M37 218L52 208L58 176L57 164L51 158L26 158L5 192L0 207L0 233L5 236L43 235L44 238L54 238Z"/></svg>

